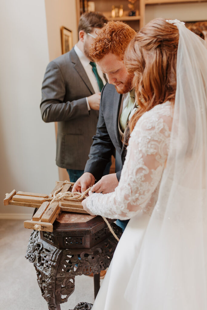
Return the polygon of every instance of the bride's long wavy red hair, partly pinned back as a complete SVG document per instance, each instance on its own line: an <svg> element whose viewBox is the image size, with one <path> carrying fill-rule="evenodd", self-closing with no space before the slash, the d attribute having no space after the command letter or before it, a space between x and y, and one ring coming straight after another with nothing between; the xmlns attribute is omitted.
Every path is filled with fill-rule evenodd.
<svg viewBox="0 0 207 310"><path fill-rule="evenodd" d="M144 26L129 43L124 64L133 84L139 105L130 120L132 131L137 120L157 104L174 102L178 28L158 18Z"/></svg>

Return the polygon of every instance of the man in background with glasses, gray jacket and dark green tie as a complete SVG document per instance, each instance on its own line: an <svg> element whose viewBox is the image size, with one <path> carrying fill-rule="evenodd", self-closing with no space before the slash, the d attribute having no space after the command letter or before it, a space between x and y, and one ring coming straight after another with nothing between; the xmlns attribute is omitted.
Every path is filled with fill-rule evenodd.
<svg viewBox="0 0 207 310"><path fill-rule="evenodd" d="M106 79L92 62L89 49L106 22L101 13L82 14L78 43L48 64L43 80L42 118L44 122L58 122L56 164L67 169L71 182L83 174L96 132ZM110 165L107 168L109 173Z"/></svg>

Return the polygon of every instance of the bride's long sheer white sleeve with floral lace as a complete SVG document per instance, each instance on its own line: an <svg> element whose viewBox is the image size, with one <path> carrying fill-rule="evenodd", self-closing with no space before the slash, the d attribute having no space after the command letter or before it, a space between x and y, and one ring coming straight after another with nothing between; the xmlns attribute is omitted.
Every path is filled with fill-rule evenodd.
<svg viewBox="0 0 207 310"><path fill-rule="evenodd" d="M129 139L119 185L112 193L87 198L93 214L111 219L130 219L139 210L151 214L168 154L172 114L166 102L140 117Z"/></svg>

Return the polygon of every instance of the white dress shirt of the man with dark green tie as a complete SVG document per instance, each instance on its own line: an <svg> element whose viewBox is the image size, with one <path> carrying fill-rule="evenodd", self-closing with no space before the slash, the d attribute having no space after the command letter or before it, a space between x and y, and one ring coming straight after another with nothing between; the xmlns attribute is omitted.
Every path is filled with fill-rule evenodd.
<svg viewBox="0 0 207 310"><path fill-rule="evenodd" d="M83 52L77 47L77 44L75 44L74 46L74 50L76 52L76 54L78 55L78 58L86 72L86 74L88 75L89 81L91 82L91 85L93 87L93 90L95 93L99 93L99 86L98 86L98 82L96 79L95 74L92 71L92 66L90 65L90 60L88 59L88 57L86 57L86 55L83 54ZM98 75L100 76L101 80L103 81L103 84L106 84L106 80L104 78L103 73L101 72L100 68L98 67L98 65L96 65L97 68L97 72ZM87 101L87 106L88 106L88 111L91 109L89 104L88 104L88 98L86 97L86 101Z"/></svg>

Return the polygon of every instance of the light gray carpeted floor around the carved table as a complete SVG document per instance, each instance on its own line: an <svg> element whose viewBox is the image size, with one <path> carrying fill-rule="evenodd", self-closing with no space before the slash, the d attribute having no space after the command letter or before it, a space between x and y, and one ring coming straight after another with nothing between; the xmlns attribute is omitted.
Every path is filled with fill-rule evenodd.
<svg viewBox="0 0 207 310"><path fill-rule="evenodd" d="M22 220L0 220L0 310L47 310L32 263L25 259L31 230ZM76 276L75 290L61 310L94 302L93 277Z"/></svg>

